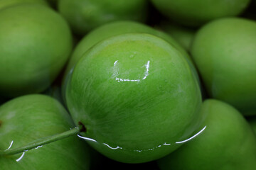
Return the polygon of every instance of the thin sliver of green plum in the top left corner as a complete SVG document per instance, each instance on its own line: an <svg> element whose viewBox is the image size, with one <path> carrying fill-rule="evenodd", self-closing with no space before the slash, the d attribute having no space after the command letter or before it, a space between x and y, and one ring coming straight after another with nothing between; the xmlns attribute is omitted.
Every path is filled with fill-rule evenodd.
<svg viewBox="0 0 256 170"><path fill-rule="evenodd" d="M44 0L0 0L0 10L10 6L16 6L21 4L43 4L48 5Z"/></svg>

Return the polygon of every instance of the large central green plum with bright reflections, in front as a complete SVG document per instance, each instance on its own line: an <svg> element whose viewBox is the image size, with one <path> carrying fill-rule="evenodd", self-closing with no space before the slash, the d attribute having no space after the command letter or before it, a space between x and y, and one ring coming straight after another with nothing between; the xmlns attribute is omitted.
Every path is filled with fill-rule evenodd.
<svg viewBox="0 0 256 170"><path fill-rule="evenodd" d="M149 162L180 147L201 122L201 92L174 45L144 33L102 40L68 79L68 110L87 142L111 159Z"/></svg>

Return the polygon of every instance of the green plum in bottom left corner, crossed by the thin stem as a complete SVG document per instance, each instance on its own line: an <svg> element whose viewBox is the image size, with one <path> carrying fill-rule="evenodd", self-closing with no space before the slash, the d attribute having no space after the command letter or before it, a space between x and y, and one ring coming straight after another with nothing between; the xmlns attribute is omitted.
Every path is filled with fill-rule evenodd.
<svg viewBox="0 0 256 170"><path fill-rule="evenodd" d="M0 149L21 147L74 126L68 112L54 98L20 96L0 107ZM88 147L79 137L68 137L20 154L1 155L1 170L89 169Z"/></svg>

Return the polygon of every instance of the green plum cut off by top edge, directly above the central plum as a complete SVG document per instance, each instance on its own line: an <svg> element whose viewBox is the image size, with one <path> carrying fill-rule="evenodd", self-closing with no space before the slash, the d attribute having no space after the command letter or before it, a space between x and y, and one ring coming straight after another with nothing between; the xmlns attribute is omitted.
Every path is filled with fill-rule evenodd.
<svg viewBox="0 0 256 170"><path fill-rule="evenodd" d="M70 23L74 33L85 35L105 23L119 20L146 20L146 0L61 0L58 11Z"/></svg>

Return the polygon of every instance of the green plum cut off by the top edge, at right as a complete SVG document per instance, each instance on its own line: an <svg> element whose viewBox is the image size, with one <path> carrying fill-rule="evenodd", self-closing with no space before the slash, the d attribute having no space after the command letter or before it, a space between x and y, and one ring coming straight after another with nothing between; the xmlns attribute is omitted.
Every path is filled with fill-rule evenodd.
<svg viewBox="0 0 256 170"><path fill-rule="evenodd" d="M202 26L208 21L228 16L238 16L250 0L151 0L154 6L171 20L184 26Z"/></svg>

